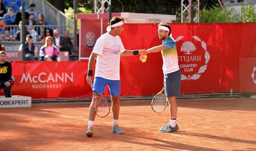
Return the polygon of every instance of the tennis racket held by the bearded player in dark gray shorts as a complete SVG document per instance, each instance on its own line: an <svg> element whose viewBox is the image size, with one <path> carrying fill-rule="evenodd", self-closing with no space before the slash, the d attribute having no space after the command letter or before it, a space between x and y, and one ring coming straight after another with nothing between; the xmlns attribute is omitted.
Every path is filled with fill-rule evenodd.
<svg viewBox="0 0 256 151"><path fill-rule="evenodd" d="M161 113L165 110L168 104L167 97L164 95L164 88L158 92L152 99L151 106L153 111Z"/></svg>

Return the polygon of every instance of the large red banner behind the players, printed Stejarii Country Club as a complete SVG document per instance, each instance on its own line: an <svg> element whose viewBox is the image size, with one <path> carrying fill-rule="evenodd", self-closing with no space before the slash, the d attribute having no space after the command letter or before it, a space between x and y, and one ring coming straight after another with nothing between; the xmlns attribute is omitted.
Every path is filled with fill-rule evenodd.
<svg viewBox="0 0 256 151"><path fill-rule="evenodd" d="M256 31L252 30L255 23L170 24L170 27L177 41L181 93L231 89L239 92L239 57L256 57ZM124 29L120 37L125 49L148 49L162 44L155 24L126 24ZM160 52L148 54L145 63L137 60L136 56L121 58L121 81L134 76L125 84L124 89L130 90L127 94L151 95L160 91L163 87Z"/></svg>

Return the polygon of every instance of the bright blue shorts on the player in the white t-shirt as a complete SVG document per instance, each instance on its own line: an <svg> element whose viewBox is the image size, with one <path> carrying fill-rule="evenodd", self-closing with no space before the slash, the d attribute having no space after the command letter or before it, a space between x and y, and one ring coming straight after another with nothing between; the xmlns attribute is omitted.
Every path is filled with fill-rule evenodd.
<svg viewBox="0 0 256 151"><path fill-rule="evenodd" d="M111 96L120 95L120 80L109 80L101 77L94 78L94 89L97 93L104 94L105 87L108 85Z"/></svg>

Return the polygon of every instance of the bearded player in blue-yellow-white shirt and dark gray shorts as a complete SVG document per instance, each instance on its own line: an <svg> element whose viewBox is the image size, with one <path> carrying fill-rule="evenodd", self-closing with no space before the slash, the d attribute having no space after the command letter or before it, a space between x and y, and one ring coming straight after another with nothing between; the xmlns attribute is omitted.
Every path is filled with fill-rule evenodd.
<svg viewBox="0 0 256 151"><path fill-rule="evenodd" d="M181 71L178 64L176 41L170 31L168 24L160 23L158 25L158 36L163 41L162 45L146 50L147 53L161 52L163 58L164 92L168 98L170 120L166 126L160 128L159 131L162 133L173 133L179 130L176 123L178 110L176 97L180 96Z"/></svg>

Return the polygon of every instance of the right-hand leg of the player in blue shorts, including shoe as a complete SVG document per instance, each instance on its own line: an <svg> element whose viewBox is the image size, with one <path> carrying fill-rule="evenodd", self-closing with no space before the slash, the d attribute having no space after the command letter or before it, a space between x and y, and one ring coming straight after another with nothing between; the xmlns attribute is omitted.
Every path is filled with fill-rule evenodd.
<svg viewBox="0 0 256 151"><path fill-rule="evenodd" d="M120 80L111 80L109 83L109 89L113 111L113 133L123 134L123 131L118 126L120 111Z"/></svg>

